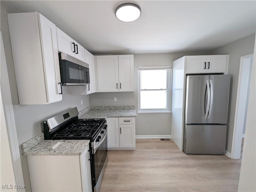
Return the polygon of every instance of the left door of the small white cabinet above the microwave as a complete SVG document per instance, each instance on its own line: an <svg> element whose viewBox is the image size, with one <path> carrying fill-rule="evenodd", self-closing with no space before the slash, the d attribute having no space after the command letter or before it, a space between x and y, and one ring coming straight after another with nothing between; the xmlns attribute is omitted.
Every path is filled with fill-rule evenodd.
<svg viewBox="0 0 256 192"><path fill-rule="evenodd" d="M57 39L58 39L58 50L62 53L67 53L68 55L75 56L75 46L74 40L65 34L62 30L56 27Z"/></svg>

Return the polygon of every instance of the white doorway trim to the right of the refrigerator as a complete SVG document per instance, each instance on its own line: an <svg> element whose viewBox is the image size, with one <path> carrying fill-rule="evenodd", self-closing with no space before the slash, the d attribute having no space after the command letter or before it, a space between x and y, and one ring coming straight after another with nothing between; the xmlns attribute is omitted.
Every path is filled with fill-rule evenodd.
<svg viewBox="0 0 256 192"><path fill-rule="evenodd" d="M238 87L237 87L237 95L236 95L236 111L235 111L235 119L234 119L234 131L233 131L233 139L232 139L232 148L231 148L231 158L233 159L240 159L241 154L241 145L242 145L242 133L243 133L243 127L238 127L238 119L244 117L240 117L238 115L238 106L240 104L240 91L241 91L241 81L242 81L242 69L244 65L245 59L253 58L253 54L245 55L240 57L240 67L239 67L239 76L238 76ZM250 81L250 79L249 79Z"/></svg>

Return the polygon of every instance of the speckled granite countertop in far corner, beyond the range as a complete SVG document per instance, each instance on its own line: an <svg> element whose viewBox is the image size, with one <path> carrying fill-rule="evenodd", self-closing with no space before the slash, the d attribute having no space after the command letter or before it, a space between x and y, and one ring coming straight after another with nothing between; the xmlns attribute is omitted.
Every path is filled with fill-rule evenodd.
<svg viewBox="0 0 256 192"><path fill-rule="evenodd" d="M90 106L79 119L106 119L114 117L136 117L135 106Z"/></svg>

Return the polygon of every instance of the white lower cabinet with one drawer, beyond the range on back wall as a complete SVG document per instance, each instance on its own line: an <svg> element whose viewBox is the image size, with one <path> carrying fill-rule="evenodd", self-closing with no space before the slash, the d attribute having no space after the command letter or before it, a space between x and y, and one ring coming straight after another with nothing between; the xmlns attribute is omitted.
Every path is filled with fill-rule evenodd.
<svg viewBox="0 0 256 192"><path fill-rule="evenodd" d="M135 117L108 118L108 150L135 149Z"/></svg>

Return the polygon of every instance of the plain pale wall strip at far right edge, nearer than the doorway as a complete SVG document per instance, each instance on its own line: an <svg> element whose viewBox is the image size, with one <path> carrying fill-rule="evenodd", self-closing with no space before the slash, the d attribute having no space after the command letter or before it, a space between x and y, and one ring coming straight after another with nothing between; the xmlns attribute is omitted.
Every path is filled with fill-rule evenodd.
<svg viewBox="0 0 256 192"><path fill-rule="evenodd" d="M238 191L256 191L256 43L254 45L254 59L252 63L252 78L250 85L250 95L248 102L248 115L246 121L246 131L244 138L244 150Z"/></svg>

